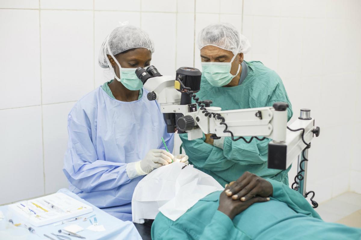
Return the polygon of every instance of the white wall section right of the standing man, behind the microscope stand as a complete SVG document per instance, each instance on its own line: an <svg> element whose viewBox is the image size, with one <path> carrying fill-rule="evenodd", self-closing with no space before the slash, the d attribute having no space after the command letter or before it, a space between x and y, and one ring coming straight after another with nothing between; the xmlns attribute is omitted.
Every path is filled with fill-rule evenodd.
<svg viewBox="0 0 361 240"><path fill-rule="evenodd" d="M307 178L318 202L361 191L360 9L356 0L244 0L243 34L253 46L245 59L280 75L294 110L291 122L300 108L309 108L321 127L309 150Z"/></svg>

